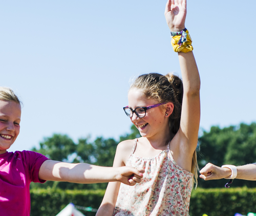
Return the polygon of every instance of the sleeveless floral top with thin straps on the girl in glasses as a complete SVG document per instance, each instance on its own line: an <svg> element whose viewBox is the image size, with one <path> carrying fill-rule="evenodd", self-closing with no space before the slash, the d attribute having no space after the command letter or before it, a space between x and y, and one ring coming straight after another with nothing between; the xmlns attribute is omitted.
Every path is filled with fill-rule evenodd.
<svg viewBox="0 0 256 216"><path fill-rule="evenodd" d="M137 139L126 166L143 167L144 178L135 186L122 184L115 216L188 216L194 175L176 164L169 150L153 158L134 155Z"/></svg>

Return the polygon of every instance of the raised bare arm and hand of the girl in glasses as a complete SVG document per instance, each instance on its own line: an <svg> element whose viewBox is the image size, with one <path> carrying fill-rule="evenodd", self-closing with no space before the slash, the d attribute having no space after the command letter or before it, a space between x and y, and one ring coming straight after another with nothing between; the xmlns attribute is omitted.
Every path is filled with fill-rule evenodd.
<svg viewBox="0 0 256 216"><path fill-rule="evenodd" d="M165 18L171 32L181 32L185 29L186 12L186 0L167 1ZM191 47L189 49L191 50ZM178 52L178 56L184 91L179 133L188 143L187 150L193 154L197 147L200 124L200 77L192 51Z"/></svg>

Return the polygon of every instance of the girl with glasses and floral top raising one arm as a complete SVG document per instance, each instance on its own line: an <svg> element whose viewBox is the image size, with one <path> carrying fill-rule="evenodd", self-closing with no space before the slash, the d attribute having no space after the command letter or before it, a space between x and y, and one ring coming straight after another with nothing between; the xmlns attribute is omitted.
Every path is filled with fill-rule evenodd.
<svg viewBox="0 0 256 216"><path fill-rule="evenodd" d="M118 144L114 167L143 168L144 178L133 188L109 183L97 216L188 215L198 177L200 77L185 17L186 0L167 1L165 18L183 83L173 74L141 75L124 107L141 137Z"/></svg>

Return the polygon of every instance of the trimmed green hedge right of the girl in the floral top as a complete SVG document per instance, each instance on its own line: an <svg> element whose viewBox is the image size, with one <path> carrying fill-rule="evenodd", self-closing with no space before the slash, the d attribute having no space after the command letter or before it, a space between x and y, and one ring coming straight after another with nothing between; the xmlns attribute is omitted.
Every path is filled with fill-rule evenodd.
<svg viewBox="0 0 256 216"><path fill-rule="evenodd" d="M233 216L256 212L256 188L198 188L191 193L190 216Z"/></svg>

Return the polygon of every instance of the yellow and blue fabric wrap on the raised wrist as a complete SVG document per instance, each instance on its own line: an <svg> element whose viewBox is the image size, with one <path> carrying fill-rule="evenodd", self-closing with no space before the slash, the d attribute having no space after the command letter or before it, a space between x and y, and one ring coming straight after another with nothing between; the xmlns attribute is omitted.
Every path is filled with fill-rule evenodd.
<svg viewBox="0 0 256 216"><path fill-rule="evenodd" d="M170 32L170 34L172 35L171 43L175 52L187 53L193 50L192 40L186 28L180 32Z"/></svg>

